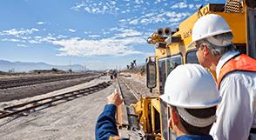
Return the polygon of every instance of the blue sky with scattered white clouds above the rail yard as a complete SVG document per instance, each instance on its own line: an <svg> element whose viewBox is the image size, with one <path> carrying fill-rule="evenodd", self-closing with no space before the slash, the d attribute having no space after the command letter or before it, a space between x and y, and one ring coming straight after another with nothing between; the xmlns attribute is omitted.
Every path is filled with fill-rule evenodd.
<svg viewBox="0 0 256 140"><path fill-rule="evenodd" d="M0 60L91 70L145 63L154 54L147 37L207 3L226 0L1 0Z"/></svg>

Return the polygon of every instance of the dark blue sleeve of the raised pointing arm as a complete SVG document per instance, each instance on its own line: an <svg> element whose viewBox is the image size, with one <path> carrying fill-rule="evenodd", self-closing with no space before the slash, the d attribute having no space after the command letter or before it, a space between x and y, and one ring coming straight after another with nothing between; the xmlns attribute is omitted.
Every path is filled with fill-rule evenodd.
<svg viewBox="0 0 256 140"><path fill-rule="evenodd" d="M127 140L127 138L118 137L118 128L115 119L116 110L117 106L114 104L106 104L104 106L104 111L100 114L100 116L98 117L98 121L96 123L96 140Z"/></svg>

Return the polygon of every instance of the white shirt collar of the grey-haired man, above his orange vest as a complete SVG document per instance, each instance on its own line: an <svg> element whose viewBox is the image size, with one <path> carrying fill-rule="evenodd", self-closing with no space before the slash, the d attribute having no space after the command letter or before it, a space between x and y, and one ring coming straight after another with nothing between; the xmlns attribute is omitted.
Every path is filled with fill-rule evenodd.
<svg viewBox="0 0 256 140"><path fill-rule="evenodd" d="M217 68L216 68L216 74L217 74L217 79L219 79L219 72L220 69L222 68L222 66L232 57L234 57L235 55L239 54L239 51L228 51L226 54L224 54L222 57L220 57L219 62L217 64Z"/></svg>

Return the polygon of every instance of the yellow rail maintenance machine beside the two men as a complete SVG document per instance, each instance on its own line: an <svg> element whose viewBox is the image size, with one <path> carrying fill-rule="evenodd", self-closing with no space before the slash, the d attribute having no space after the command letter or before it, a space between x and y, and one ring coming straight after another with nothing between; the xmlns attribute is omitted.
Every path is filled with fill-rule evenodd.
<svg viewBox="0 0 256 140"><path fill-rule="evenodd" d="M134 107L140 129L150 139L175 139L176 134L168 128L168 109L159 96L164 94L165 79L179 64L199 63L192 42L194 23L207 14L217 14L228 23L234 36L232 43L241 53L256 59L256 2L252 0L228 0L226 3L209 3L200 7L191 17L179 24L179 29L158 29L147 43L155 44L155 56L146 63L146 86L158 88L158 97L140 98ZM167 36L165 37L164 36ZM211 71L212 72L212 71ZM214 75L214 73L212 73ZM164 109L165 108L165 109Z"/></svg>

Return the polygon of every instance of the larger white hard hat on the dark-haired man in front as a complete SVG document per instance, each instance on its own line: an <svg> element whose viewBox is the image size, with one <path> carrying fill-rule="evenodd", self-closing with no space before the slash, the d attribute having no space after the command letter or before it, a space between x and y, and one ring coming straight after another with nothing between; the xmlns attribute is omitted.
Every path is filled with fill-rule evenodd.
<svg viewBox="0 0 256 140"><path fill-rule="evenodd" d="M179 65L165 81L165 103L187 109L203 109L221 101L217 84L210 71L199 64Z"/></svg>

